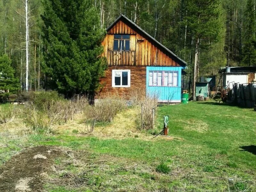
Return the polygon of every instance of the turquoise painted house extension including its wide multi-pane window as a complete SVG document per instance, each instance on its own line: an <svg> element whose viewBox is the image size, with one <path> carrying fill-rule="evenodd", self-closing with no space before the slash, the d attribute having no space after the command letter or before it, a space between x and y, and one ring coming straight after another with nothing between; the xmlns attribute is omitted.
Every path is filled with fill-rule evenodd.
<svg viewBox="0 0 256 192"><path fill-rule="evenodd" d="M159 102L180 103L181 102L181 70L184 68L185 67L147 67L147 81L146 81L147 93L157 94ZM170 76L167 75L169 74L169 72L171 72L172 75ZM175 75L173 75L174 73ZM177 78L175 77L176 75L178 75ZM167 80L167 76L168 76L168 80ZM160 82L161 78L162 78L162 83L158 83ZM173 80L173 78L176 78L176 79ZM172 80L169 81L169 79L172 79ZM177 80L177 84L176 84L176 80ZM168 83L166 81L168 81ZM170 85L176 84L177 86L167 86L167 84L170 84ZM161 86L161 85L166 85L166 86Z"/></svg>

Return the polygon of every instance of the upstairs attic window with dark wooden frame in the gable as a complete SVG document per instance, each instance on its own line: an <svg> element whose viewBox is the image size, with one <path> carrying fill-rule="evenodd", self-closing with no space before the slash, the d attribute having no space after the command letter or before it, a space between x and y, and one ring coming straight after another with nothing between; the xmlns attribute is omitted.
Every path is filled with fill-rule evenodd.
<svg viewBox="0 0 256 192"><path fill-rule="evenodd" d="M114 35L114 51L130 51L130 35Z"/></svg>

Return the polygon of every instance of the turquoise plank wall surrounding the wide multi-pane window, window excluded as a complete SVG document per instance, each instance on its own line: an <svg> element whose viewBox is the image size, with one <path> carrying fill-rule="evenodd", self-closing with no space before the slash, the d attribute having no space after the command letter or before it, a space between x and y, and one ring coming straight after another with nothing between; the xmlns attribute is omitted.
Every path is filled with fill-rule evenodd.
<svg viewBox="0 0 256 192"><path fill-rule="evenodd" d="M179 103L181 101L181 70L185 67L147 67L146 90L148 94L157 94L159 102L168 102L168 97L173 95L169 102ZM178 87L148 86L149 71L178 71Z"/></svg>

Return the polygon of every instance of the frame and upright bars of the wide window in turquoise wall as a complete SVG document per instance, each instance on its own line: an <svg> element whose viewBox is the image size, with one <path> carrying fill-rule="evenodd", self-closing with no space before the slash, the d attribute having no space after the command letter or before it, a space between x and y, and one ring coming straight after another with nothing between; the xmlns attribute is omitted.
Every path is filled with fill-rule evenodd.
<svg viewBox="0 0 256 192"><path fill-rule="evenodd" d="M149 76L150 76L150 72L152 72L152 85L150 85L150 81L149 81ZM154 85L154 72L156 72L156 85ZM162 85L158 85L158 72L162 73ZM164 85L164 74L168 73L168 78L169 78L169 74L172 73L172 85L169 86L169 82L167 82L167 85ZM173 79L174 79L174 73L177 73L177 85L173 86ZM179 71L162 71L162 70L149 70L148 71L148 86L149 87L179 87Z"/></svg>

